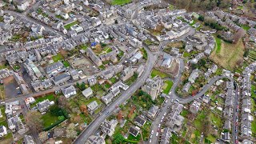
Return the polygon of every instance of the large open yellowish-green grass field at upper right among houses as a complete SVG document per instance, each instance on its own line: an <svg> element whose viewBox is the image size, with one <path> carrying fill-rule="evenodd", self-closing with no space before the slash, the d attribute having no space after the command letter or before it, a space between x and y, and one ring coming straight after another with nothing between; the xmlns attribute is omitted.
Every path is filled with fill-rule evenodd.
<svg viewBox="0 0 256 144"><path fill-rule="evenodd" d="M218 51L218 46L216 46L210 54L210 59L227 70L234 70L243 59L244 49L242 40L239 40L237 44L222 42L221 50Z"/></svg>

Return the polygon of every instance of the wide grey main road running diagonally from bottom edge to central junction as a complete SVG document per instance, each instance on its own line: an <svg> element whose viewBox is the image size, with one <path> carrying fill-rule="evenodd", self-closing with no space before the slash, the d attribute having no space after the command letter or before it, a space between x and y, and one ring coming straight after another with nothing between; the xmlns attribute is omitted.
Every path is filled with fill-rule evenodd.
<svg viewBox="0 0 256 144"><path fill-rule="evenodd" d="M125 102L136 90L138 90L139 87L143 85L146 78L148 78L151 74L151 70L153 69L154 62L156 61L157 54L152 54L148 48L145 49L147 52L147 61L144 73L142 74L141 78L138 78L136 82L134 82L133 85L130 86L130 88L126 91L124 91L120 97L118 97L114 102L110 104L110 106L106 106L106 109L103 110L102 114L98 116L94 120L94 122L91 122L89 126L86 127L85 130L82 131L82 134L78 136L78 138L74 141L76 144L82 144L86 143L87 138L90 137L90 135L94 134L94 132L98 129L98 127L101 125L101 123L108 117L112 112L116 109L116 106L121 105L123 102Z"/></svg>

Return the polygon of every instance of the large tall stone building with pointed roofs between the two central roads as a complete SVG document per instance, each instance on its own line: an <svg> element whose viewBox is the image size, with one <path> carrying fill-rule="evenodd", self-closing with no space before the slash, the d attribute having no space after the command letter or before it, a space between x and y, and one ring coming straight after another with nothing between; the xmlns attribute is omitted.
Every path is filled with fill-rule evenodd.
<svg viewBox="0 0 256 144"><path fill-rule="evenodd" d="M142 86L142 90L147 94L150 94L152 100L154 101L158 98L158 94L160 94L163 86L163 81L159 76L154 78L148 78L144 86Z"/></svg>

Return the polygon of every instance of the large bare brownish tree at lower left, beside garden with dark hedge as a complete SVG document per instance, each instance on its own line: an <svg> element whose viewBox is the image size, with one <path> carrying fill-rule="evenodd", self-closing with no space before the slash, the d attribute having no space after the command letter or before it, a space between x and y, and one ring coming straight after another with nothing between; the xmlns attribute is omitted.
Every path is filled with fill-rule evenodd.
<svg viewBox="0 0 256 144"><path fill-rule="evenodd" d="M26 114L26 125L30 127L30 129L34 128L38 131L41 131L42 126L42 114L38 111L30 111Z"/></svg>

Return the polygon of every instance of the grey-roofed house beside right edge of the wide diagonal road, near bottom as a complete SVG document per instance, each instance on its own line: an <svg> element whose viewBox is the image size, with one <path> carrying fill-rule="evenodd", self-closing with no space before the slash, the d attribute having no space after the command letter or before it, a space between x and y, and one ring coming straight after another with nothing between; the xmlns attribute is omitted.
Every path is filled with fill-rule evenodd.
<svg viewBox="0 0 256 144"><path fill-rule="evenodd" d="M111 137L114 134L114 129L117 125L118 121L116 119L112 119L111 121L105 120L102 122L101 130L103 133Z"/></svg>

